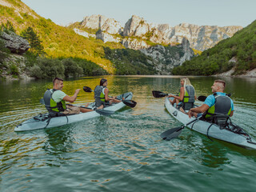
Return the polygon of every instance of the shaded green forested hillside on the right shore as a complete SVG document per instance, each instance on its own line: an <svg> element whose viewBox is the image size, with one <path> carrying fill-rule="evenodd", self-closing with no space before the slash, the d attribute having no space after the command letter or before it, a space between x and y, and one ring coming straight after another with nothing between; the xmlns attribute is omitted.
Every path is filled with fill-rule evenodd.
<svg viewBox="0 0 256 192"><path fill-rule="evenodd" d="M238 31L232 38L218 42L196 58L172 70L179 75L213 75L234 69L234 74L244 74L256 68L256 21Z"/></svg>

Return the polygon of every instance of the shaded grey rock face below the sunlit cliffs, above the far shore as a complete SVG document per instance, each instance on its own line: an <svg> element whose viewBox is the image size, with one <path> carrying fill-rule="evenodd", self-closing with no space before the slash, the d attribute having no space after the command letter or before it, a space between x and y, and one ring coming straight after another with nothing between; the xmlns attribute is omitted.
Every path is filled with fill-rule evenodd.
<svg viewBox="0 0 256 192"><path fill-rule="evenodd" d="M158 74L171 74L170 70L174 66L180 66L195 56L194 51L190 48L190 42L186 38L183 38L182 43L178 46L150 46L140 51L154 58L154 61L158 63L155 66Z"/></svg>

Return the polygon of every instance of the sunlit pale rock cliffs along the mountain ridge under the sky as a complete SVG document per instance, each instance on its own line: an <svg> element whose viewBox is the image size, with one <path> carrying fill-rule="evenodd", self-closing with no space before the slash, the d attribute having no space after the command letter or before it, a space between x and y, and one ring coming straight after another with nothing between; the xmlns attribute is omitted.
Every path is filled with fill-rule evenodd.
<svg viewBox="0 0 256 192"><path fill-rule="evenodd" d="M102 39L103 42L121 42L126 48L135 50L145 49L146 41L177 45L182 43L183 38L188 39L191 48L207 50L242 29L242 26L197 26L188 23L172 27L168 24L150 24L136 15L126 22L124 28L113 18L106 18L102 15L85 17L81 25L91 29L100 29L96 38ZM117 38L116 34L121 35L122 39Z"/></svg>

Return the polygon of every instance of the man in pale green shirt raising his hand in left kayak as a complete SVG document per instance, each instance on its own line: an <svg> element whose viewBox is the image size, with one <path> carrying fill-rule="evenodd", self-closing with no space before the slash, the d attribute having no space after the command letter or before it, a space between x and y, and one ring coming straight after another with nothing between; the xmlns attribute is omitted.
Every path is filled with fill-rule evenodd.
<svg viewBox="0 0 256 192"><path fill-rule="evenodd" d="M86 113L92 111L78 106L66 105L66 102L74 102L76 100L81 89L75 90L74 95L70 97L62 91L62 78L54 78L53 84L53 89L46 90L46 93L43 96L46 109L49 111L50 115L58 116L60 114L79 114L80 112Z"/></svg>

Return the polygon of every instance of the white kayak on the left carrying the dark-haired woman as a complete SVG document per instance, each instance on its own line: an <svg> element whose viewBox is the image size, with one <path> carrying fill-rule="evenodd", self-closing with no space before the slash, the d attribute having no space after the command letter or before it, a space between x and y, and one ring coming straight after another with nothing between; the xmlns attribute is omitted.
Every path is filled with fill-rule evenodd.
<svg viewBox="0 0 256 192"><path fill-rule="evenodd" d="M133 94L131 92L120 94L118 95L118 99L122 100L122 98L125 98L125 101L129 101L133 97ZM107 111L117 111L122 109L126 104L124 102L118 102L114 103L110 106L106 106L103 108ZM94 102L90 103L88 107L93 108ZM103 113L102 113L103 114ZM18 126L14 128L14 131L25 131L25 130L38 130L38 129L46 129L51 127L57 127L57 126L64 126L73 122L80 122L84 121L86 119L90 118L96 118L99 117L101 114L99 114L97 111L90 111L87 113L80 113L80 114L72 114L72 115L66 115L66 116L59 116L59 117L50 117L48 113L46 114L38 114L34 118L30 118L26 120L25 122L22 122Z"/></svg>

